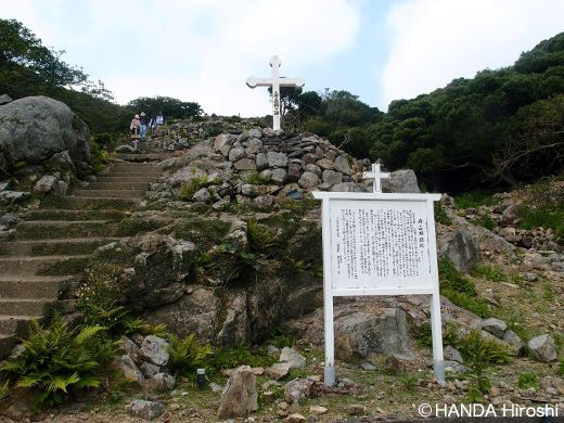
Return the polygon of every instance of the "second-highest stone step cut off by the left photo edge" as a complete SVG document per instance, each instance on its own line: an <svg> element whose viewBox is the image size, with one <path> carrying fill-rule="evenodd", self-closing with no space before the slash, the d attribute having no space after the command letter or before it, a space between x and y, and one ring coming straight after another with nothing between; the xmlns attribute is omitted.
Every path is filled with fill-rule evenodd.
<svg viewBox="0 0 564 423"><path fill-rule="evenodd" d="M1 257L0 274L74 274L89 256ZM0 310L2 310L0 308Z"/></svg>

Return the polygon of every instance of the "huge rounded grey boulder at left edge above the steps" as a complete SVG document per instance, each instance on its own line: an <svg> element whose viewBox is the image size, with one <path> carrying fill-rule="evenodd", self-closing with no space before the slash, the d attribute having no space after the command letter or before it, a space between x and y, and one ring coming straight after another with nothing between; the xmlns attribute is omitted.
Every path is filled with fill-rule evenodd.
<svg viewBox="0 0 564 423"><path fill-rule="evenodd" d="M41 164L65 150L88 163L89 142L86 124L60 101L26 97L0 108L0 153L8 163Z"/></svg>

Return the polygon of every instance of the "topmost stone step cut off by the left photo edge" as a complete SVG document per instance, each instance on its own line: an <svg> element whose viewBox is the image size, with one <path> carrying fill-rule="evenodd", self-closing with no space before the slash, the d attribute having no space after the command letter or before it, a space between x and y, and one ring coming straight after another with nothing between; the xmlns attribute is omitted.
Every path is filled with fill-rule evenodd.
<svg viewBox="0 0 564 423"><path fill-rule="evenodd" d="M67 238L41 241L10 241L0 243L0 256L76 256L92 254L98 247L117 241L117 238Z"/></svg>

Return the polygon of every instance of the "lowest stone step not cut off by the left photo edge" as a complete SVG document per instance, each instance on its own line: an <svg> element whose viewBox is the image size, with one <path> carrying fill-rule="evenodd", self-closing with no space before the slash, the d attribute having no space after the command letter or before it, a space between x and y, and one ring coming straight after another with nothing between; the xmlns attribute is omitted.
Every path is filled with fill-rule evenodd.
<svg viewBox="0 0 564 423"><path fill-rule="evenodd" d="M111 236L115 222L107 220L27 220L16 227L15 241Z"/></svg>

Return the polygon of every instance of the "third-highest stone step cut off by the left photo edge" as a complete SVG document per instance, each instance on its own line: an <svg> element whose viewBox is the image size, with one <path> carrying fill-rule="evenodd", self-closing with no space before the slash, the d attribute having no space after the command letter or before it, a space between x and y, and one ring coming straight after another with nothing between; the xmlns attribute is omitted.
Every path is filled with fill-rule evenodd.
<svg viewBox="0 0 564 423"><path fill-rule="evenodd" d="M0 277L0 298L57 298L76 277ZM0 310L2 311L2 310Z"/></svg>

